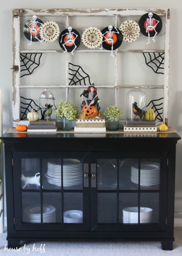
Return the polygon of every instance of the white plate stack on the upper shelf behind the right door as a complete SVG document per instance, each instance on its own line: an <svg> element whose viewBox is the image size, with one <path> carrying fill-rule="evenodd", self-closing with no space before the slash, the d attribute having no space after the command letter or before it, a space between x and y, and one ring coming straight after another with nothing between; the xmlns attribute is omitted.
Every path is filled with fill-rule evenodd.
<svg viewBox="0 0 182 256"><path fill-rule="evenodd" d="M138 164L131 166L131 181L138 184ZM144 162L140 165L140 185L152 186L160 182L160 164Z"/></svg>

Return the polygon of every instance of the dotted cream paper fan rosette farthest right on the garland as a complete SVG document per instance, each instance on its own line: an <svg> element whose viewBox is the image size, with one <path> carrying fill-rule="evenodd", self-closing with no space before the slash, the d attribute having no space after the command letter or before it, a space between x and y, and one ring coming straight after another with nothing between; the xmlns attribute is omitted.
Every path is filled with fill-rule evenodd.
<svg viewBox="0 0 182 256"><path fill-rule="evenodd" d="M126 20L120 25L120 31L125 42L133 42L140 35L140 27L133 20Z"/></svg>

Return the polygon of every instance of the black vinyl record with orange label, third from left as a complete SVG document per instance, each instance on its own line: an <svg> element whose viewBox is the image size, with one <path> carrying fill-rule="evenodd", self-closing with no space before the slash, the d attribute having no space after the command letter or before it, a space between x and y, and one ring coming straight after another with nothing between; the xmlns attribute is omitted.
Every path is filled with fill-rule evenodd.
<svg viewBox="0 0 182 256"><path fill-rule="evenodd" d="M109 26L110 27L110 26ZM119 30L119 28L115 29L115 27L113 27L111 29L111 32L113 32L112 37L109 40L109 27L106 27L104 29L102 29L102 35L103 36L103 42L102 42L102 46L104 49L106 50L112 50L112 44L113 44L113 50L116 50L118 47L120 47L122 41L123 41L123 36L121 34L121 31Z"/></svg>

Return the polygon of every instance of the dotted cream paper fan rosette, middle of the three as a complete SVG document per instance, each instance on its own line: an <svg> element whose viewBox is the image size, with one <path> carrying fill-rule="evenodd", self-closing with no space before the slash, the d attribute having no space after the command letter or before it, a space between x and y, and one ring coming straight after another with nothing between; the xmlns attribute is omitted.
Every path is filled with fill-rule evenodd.
<svg viewBox="0 0 182 256"><path fill-rule="evenodd" d="M95 27L86 28L82 34L82 42L88 48L97 48L102 43L102 33Z"/></svg>

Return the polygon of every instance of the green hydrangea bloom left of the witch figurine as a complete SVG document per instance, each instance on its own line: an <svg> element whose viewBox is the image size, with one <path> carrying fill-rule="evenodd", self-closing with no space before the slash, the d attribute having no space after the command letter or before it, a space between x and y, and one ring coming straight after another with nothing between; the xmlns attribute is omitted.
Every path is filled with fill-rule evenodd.
<svg viewBox="0 0 182 256"><path fill-rule="evenodd" d="M55 114L60 118L65 116L68 120L76 120L78 117L78 107L69 102L60 101L57 104Z"/></svg>

